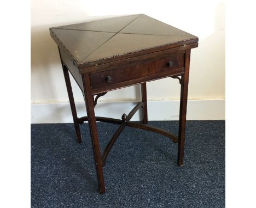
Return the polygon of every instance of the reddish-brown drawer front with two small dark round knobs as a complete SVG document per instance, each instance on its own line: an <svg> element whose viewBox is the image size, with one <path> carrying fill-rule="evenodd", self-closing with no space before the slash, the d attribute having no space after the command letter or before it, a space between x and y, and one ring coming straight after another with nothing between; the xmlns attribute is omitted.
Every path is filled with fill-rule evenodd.
<svg viewBox="0 0 256 208"><path fill-rule="evenodd" d="M109 87L109 89L111 89L111 85L113 84L116 85L133 79L139 79L141 77L157 76L163 72L166 72L167 74L170 72L171 76L172 72L173 75L177 74L177 69L183 68L184 63L184 53L178 53L154 60L136 62L132 65L113 70L98 72L90 75L91 88L98 89Z"/></svg>

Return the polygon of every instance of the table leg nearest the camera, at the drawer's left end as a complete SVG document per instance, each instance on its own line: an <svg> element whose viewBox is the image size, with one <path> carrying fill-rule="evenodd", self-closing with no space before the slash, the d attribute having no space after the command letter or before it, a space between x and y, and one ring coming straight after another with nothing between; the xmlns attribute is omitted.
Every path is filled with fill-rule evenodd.
<svg viewBox="0 0 256 208"><path fill-rule="evenodd" d="M105 193L105 183L104 183L104 176L103 176L103 167L102 167L102 160L101 160L101 150L100 150L100 142L98 140L98 132L96 126L96 118L94 112L94 96L91 94L90 88L90 78L89 75L83 75L83 83L84 83L84 91L85 91L85 105L86 111L88 116L88 123L90 127L91 133L91 143L92 149L94 152L94 161L96 166L97 172L97 179L98 179L98 187L100 189L100 193Z"/></svg>

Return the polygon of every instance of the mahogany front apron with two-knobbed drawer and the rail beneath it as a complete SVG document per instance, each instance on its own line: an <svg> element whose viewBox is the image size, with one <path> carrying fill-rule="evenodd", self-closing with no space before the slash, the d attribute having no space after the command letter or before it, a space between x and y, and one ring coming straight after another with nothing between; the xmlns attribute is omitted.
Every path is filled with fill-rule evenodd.
<svg viewBox="0 0 256 208"><path fill-rule="evenodd" d="M168 76L182 74L185 53L171 53L90 74L92 91L107 91Z"/></svg>

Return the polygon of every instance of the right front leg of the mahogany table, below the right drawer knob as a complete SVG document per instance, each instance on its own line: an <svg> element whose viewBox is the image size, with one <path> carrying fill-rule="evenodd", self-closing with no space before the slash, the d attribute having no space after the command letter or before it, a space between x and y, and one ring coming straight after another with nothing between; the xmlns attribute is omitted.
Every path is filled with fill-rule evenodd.
<svg viewBox="0 0 256 208"><path fill-rule="evenodd" d="M183 166L185 127L188 100L190 50L185 53L185 73L181 81L181 101L179 106L179 143L178 143L178 166Z"/></svg>

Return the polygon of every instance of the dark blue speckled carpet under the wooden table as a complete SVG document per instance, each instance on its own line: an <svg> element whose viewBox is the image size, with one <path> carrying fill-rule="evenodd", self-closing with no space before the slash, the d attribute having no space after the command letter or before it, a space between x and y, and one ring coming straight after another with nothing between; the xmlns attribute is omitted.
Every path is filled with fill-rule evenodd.
<svg viewBox="0 0 256 208"><path fill-rule="evenodd" d="M150 121L177 134L177 121ZM97 191L88 124L31 125L31 207L225 207L225 121L187 121L184 166L167 137L126 127ZM97 123L101 149L115 124Z"/></svg>

